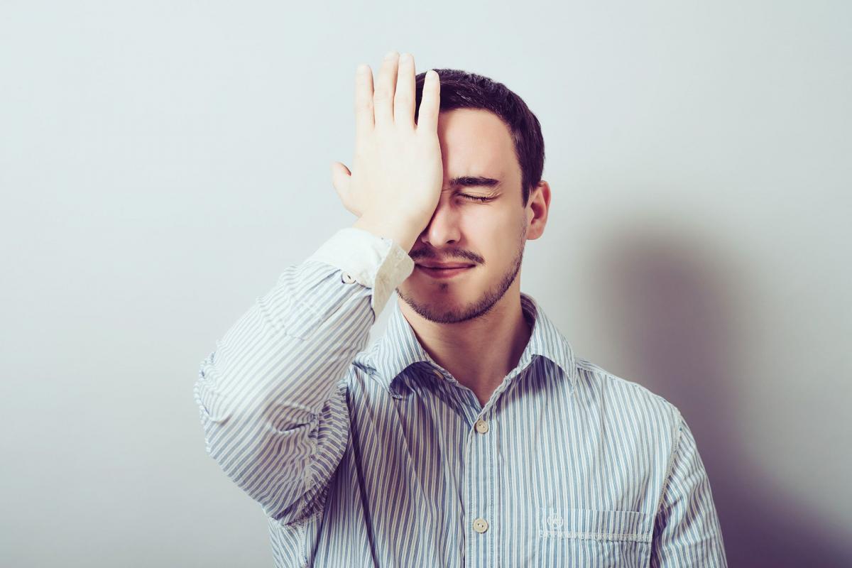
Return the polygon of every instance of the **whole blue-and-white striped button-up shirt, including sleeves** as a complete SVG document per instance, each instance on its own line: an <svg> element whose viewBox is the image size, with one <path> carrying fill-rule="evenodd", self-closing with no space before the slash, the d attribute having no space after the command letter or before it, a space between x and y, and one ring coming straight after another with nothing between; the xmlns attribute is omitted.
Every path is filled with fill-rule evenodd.
<svg viewBox="0 0 852 568"><path fill-rule="evenodd" d="M283 566L726 566L677 408L577 356L532 296L532 336L485 405L391 291L413 270L347 227L285 268L202 361L207 453L256 500Z"/></svg>

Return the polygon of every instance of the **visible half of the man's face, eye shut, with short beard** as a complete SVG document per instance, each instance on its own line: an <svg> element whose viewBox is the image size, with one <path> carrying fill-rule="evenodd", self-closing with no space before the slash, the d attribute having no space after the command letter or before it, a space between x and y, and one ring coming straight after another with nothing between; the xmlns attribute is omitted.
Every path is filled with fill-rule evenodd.
<svg viewBox="0 0 852 568"><path fill-rule="evenodd" d="M520 290L516 280L527 242L527 209L521 203L515 147L497 115L467 108L441 112L438 138L444 186L429 225L409 255L417 265L474 266L449 278L437 278L417 266L397 294L423 318L446 324L487 313L513 284ZM458 178L477 177L498 183L452 185Z"/></svg>

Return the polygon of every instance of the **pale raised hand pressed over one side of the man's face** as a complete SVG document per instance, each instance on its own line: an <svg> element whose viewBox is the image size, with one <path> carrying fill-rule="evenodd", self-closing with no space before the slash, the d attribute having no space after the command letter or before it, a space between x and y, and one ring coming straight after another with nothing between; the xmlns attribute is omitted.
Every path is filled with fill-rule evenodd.
<svg viewBox="0 0 852 568"><path fill-rule="evenodd" d="M412 244L435 213L444 178L435 71L426 73L417 123L414 108L411 55L400 57L392 51L385 56L375 92L370 67L361 66L355 74L353 170L340 162L331 164L338 197L362 225L405 227L406 238L400 240Z"/></svg>

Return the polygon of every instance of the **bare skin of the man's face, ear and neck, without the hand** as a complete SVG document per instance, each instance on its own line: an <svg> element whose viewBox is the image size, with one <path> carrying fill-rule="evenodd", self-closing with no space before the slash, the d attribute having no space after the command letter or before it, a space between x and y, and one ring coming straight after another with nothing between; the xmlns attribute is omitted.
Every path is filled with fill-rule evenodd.
<svg viewBox="0 0 852 568"><path fill-rule="evenodd" d="M544 232L550 186L539 182L527 206L521 203L521 168L509 129L492 112L440 112L438 137L444 185L409 255L416 263L462 261L475 267L451 279L415 268L397 288L397 301L429 356L484 405L529 341L531 328L521 312L521 260L527 240ZM500 184L449 186L465 175Z"/></svg>

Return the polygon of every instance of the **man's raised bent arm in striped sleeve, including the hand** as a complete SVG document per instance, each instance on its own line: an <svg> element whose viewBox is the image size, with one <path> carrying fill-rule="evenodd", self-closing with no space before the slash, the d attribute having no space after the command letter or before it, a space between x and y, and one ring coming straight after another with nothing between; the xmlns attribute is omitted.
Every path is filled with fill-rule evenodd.
<svg viewBox="0 0 852 568"><path fill-rule="evenodd" d="M195 382L207 452L283 522L323 506L348 444L352 362L412 273L408 252L440 198L438 78L428 74L415 124L414 63L398 59L383 61L375 93L369 67L357 72L354 173L333 167L360 219L287 267L216 341Z"/></svg>

